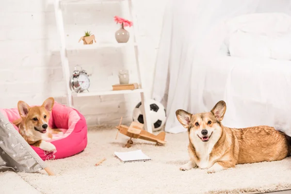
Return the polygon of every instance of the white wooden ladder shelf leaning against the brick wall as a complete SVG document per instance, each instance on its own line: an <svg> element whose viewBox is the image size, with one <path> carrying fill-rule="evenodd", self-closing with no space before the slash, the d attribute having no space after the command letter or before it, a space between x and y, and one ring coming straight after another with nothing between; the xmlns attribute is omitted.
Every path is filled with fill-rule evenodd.
<svg viewBox="0 0 291 194"><path fill-rule="evenodd" d="M113 0L108 0L110 2L112 2ZM120 2L121 0L116 0L116 2ZM57 24L57 29L58 29L58 33L60 36L60 41L61 41L61 45L60 45L60 54L61 54L61 61L62 61L62 67L63 67L63 74L65 77L65 88L66 88L66 101L67 101L67 105L70 107L74 107L73 104L73 97L88 97L88 96L102 96L102 95L119 95L119 94L129 94L129 93L140 93L141 95L141 101L142 101L142 106L143 106L143 115L144 115L144 125L145 125L145 129L152 133L152 125L151 125L151 119L150 119L150 106L148 104L147 101L147 97L146 97L146 89L143 88L143 84L142 84L142 79L141 79L141 72L140 72L140 63L139 63L139 54L138 54L138 44L137 44L137 18L136 18L136 14L134 12L134 9L132 7L132 2L131 0L126 0L128 1L129 4L129 11L130 11L130 15L131 15L131 20L133 23L133 29L134 29L134 34L133 34L133 38L134 38L134 43L129 43L132 44L132 46L134 47L134 51L135 51L135 61L136 61L136 67L137 67L137 73L138 73L138 80L139 80L139 89L135 89L135 90L119 90L119 91L99 91L99 92L86 92L86 93L76 93L76 92L72 92L70 89L70 70L69 70L69 62L68 62L68 58L67 58L67 52L66 52L66 44L65 44L65 29L64 29L64 20L63 20L63 10L61 7L61 2L68 2L68 3L92 3L92 2L97 2L97 3L103 3L106 2L106 0L104 1L100 1L100 0L55 0L54 6L55 6L55 17L56 17L56 24ZM96 45L97 43L95 43ZM118 43L116 43L118 44ZM121 44L127 44L127 43L119 43ZM118 45L119 46L119 45ZM93 46L93 48L100 48L102 47L102 45L97 45L97 47ZM106 47L106 45L104 45L104 47Z"/></svg>

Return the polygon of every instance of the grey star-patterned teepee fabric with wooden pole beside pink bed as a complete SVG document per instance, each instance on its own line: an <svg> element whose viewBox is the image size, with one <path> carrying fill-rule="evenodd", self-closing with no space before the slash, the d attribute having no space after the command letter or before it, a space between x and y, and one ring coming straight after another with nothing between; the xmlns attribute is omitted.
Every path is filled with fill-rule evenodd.
<svg viewBox="0 0 291 194"><path fill-rule="evenodd" d="M42 169L53 175L45 162L0 112L0 171L32 173Z"/></svg>

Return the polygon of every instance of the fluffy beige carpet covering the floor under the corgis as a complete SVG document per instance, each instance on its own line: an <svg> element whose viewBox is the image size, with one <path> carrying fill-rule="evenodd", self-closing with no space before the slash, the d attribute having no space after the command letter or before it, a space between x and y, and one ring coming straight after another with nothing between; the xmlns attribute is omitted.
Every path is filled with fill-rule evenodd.
<svg viewBox="0 0 291 194"><path fill-rule="evenodd" d="M183 172L179 166L188 160L187 133L166 134L165 146L135 140L133 147L124 148L127 138L119 134L115 140L116 131L90 130L82 153L48 161L55 177L44 172L0 173L0 194L236 194L291 188L291 158L237 165L215 174L200 169ZM114 151L136 149L152 161L122 163L113 156ZM94 166L102 157L107 160Z"/></svg>

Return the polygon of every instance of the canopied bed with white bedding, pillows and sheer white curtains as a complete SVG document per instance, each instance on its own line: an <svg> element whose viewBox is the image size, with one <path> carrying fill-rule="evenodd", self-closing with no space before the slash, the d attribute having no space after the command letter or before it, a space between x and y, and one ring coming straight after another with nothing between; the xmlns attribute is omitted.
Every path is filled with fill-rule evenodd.
<svg viewBox="0 0 291 194"><path fill-rule="evenodd" d="M166 107L165 131L186 131L177 109L206 112L225 100L225 126L291 136L290 16L289 0L170 1L152 95Z"/></svg>

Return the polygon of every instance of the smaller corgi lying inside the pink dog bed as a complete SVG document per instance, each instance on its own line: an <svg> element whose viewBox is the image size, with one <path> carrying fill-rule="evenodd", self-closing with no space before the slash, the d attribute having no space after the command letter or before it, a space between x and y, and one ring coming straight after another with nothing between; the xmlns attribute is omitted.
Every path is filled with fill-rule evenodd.
<svg viewBox="0 0 291 194"><path fill-rule="evenodd" d="M54 98L49 97L41 106L30 107L27 103L19 101L17 104L19 119L13 121L20 135L29 145L39 147L46 151L56 150L56 147L46 142L52 139L52 134L63 133L59 129L50 129L49 116L54 105Z"/></svg>

